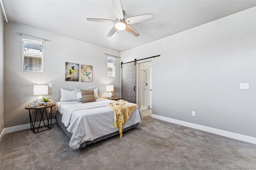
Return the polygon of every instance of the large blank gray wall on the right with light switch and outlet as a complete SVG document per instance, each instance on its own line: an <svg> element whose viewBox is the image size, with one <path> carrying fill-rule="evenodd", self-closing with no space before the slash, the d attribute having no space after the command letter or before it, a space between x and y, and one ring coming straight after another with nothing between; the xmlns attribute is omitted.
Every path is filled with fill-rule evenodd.
<svg viewBox="0 0 256 170"><path fill-rule="evenodd" d="M256 7L121 52L121 60L158 54L153 114L256 137Z"/></svg>

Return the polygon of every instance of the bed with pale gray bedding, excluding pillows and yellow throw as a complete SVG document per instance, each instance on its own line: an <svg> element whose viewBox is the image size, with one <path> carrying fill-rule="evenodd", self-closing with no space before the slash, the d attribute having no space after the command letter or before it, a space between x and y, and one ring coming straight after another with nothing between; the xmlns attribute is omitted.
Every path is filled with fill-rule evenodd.
<svg viewBox="0 0 256 170"><path fill-rule="evenodd" d="M90 103L56 103L56 121L70 138L69 146L72 149L85 147L87 144L119 134L119 128L114 128L114 113L108 107L112 102L114 101L99 98ZM137 108L124 124L123 132L138 127L141 117L140 108Z"/></svg>

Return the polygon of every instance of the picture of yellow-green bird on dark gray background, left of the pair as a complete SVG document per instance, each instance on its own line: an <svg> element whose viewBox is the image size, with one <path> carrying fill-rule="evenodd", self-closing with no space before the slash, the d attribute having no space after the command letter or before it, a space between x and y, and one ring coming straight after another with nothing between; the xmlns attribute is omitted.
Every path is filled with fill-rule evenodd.
<svg viewBox="0 0 256 170"><path fill-rule="evenodd" d="M79 81L79 64L66 62L65 81Z"/></svg>

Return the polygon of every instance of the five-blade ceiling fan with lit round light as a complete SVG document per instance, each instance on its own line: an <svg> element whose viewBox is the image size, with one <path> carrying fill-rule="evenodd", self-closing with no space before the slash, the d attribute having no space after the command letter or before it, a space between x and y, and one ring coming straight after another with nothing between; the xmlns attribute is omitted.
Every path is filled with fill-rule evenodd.
<svg viewBox="0 0 256 170"><path fill-rule="evenodd" d="M140 34L132 28L129 24L135 24L138 22L144 22L147 20L153 19L153 14L143 14L143 15L137 15L132 16L124 19L124 13L123 8L121 4L121 0L112 0L113 1L113 7L114 7L114 13L116 16L116 20L107 20L107 19L100 19L100 18L86 18L87 21L92 22L105 22L105 23L115 23L115 26L110 30L107 37L113 36L117 30L126 30L130 34L132 34L135 37L138 37Z"/></svg>

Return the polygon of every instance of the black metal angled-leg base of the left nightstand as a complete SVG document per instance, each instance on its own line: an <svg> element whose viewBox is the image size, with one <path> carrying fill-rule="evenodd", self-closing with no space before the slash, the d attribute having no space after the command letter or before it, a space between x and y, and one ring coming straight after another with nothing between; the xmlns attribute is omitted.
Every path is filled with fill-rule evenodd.
<svg viewBox="0 0 256 170"><path fill-rule="evenodd" d="M40 111L40 115L41 115L41 119L40 119L40 122L39 122L39 125L38 127L35 127L35 124L36 124L36 117L37 117L37 111ZM34 119L34 123L33 123L33 120L32 120L32 116L31 116L31 113L30 113L30 110L29 111L29 117L30 117L30 128L31 130L34 132L34 133L39 133L39 132L43 132L45 130L50 130L52 128L52 107L50 108L50 113L49 113L49 117L47 115L47 111L46 111L46 108L43 108L43 111L41 111L41 109L36 109L36 116L35 116L35 119ZM43 118L43 115L44 115L44 112L45 112L45 115L46 115L46 121L47 121L47 124L44 122L44 118ZM39 115L39 114L38 114ZM43 122L42 125L44 126L41 126L41 122ZM47 129L45 130L41 130L39 131L40 128L44 128L46 127ZM37 129L37 130L36 130Z"/></svg>

